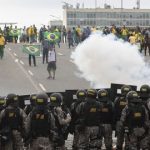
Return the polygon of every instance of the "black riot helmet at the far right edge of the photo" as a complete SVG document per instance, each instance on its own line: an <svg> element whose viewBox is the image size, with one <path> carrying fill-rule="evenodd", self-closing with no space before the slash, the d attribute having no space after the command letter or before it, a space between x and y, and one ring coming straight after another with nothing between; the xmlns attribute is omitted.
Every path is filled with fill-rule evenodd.
<svg viewBox="0 0 150 150"><path fill-rule="evenodd" d="M144 84L140 87L140 97L141 98L149 98L150 96L150 86Z"/></svg>

